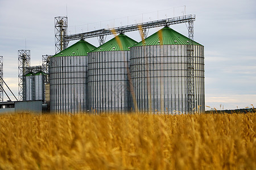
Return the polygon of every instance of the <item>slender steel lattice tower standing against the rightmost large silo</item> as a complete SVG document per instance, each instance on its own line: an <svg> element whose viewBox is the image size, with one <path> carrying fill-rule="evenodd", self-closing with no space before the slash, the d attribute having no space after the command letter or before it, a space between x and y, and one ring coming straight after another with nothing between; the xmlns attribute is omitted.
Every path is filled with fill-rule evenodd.
<svg viewBox="0 0 256 170"><path fill-rule="evenodd" d="M188 107L189 113L195 112L195 82L194 82L194 28L193 21L188 22Z"/></svg>

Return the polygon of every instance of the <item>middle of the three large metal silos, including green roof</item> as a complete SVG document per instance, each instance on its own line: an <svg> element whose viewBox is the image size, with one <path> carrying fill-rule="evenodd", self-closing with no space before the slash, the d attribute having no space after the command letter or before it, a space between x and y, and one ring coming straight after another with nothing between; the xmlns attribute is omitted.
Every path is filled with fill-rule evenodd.
<svg viewBox="0 0 256 170"><path fill-rule="evenodd" d="M88 54L88 109L130 111L130 47L122 33Z"/></svg>

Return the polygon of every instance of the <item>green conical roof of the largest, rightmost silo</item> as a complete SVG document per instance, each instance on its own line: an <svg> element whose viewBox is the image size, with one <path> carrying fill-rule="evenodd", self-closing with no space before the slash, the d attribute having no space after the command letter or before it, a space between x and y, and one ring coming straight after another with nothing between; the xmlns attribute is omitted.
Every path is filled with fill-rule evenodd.
<svg viewBox="0 0 256 170"><path fill-rule="evenodd" d="M162 35L162 36L161 36ZM153 35L144 40L144 45L188 45L188 37L169 27L164 27ZM143 42L139 42L134 46L142 46ZM193 41L193 45L201 45Z"/></svg>

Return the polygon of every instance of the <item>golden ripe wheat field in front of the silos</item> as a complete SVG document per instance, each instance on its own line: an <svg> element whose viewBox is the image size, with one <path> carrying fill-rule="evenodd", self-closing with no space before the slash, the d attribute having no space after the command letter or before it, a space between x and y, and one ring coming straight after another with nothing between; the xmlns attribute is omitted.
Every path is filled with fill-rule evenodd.
<svg viewBox="0 0 256 170"><path fill-rule="evenodd" d="M256 114L0 116L0 169L256 169Z"/></svg>

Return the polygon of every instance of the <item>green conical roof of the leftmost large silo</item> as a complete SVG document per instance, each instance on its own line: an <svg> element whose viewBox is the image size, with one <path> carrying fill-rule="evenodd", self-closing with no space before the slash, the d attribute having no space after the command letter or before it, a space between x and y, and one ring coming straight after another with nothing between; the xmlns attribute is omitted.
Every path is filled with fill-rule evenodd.
<svg viewBox="0 0 256 170"><path fill-rule="evenodd" d="M85 40L80 40L52 57L87 56L93 49L96 47Z"/></svg>

